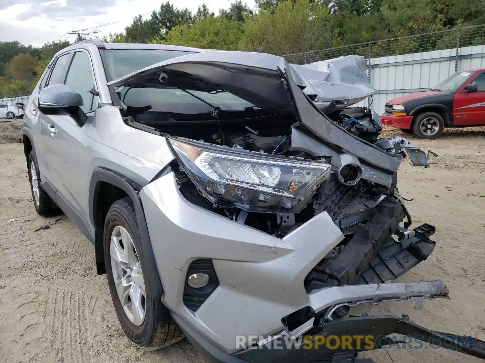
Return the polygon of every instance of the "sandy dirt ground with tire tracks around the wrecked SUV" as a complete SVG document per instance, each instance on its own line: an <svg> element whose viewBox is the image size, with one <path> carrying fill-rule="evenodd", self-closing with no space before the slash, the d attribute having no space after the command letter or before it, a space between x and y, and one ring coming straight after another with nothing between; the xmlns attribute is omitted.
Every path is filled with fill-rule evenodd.
<svg viewBox="0 0 485 363"><path fill-rule="evenodd" d="M63 215L36 214L22 144L5 143L18 140L17 123L0 122L0 362L202 363L185 340L143 352L125 337L106 278L96 274L93 245ZM404 136L392 129L385 134ZM408 314L431 329L485 340L485 197L477 197L485 196L485 128L446 130L434 141L408 137L438 154L427 169L405 159L398 182L404 197L414 198L407 203L413 226L435 225L437 245L400 281L442 279L451 300L426 301L422 310L394 302L358 312ZM394 348L364 356L376 362L481 362L445 349Z"/></svg>

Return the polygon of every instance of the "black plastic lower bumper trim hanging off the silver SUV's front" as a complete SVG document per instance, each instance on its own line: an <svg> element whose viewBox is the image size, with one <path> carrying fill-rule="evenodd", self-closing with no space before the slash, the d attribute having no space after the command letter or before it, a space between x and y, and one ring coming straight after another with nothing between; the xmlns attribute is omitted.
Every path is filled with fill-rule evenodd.
<svg viewBox="0 0 485 363"><path fill-rule="evenodd" d="M403 344L411 343L412 339L431 344L433 347L451 349L485 359L484 341L471 336L432 331L409 321L405 316L350 317L330 321L316 326L299 346L288 344L288 339L284 341L280 338L265 346L234 355L226 354L210 345L176 315L172 314L172 318L208 363L352 363L359 351L396 344L403 347ZM388 337L391 334L401 334L403 339L393 340L392 337ZM325 344L327 339L331 343ZM341 344L343 340L347 341L346 345ZM419 349L424 345L419 343L414 347ZM364 361L372 362L362 360L362 363Z"/></svg>

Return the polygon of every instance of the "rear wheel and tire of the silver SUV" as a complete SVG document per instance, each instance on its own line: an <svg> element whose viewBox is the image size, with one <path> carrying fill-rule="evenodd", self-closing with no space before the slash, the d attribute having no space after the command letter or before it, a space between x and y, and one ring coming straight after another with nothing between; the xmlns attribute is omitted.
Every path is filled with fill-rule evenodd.
<svg viewBox="0 0 485 363"><path fill-rule="evenodd" d="M29 173L32 201L35 211L37 211L37 213L43 217L61 214L62 212L57 204L52 200L51 197L49 197L49 194L47 194L40 185L39 166L33 150L27 159L27 171Z"/></svg>

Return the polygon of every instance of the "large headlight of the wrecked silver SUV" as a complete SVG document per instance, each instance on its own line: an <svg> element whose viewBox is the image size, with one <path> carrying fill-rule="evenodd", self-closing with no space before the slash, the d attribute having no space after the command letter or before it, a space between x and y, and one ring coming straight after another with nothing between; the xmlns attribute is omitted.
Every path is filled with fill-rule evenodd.
<svg viewBox="0 0 485 363"><path fill-rule="evenodd" d="M220 207L298 212L328 179L322 161L261 154L184 138L169 138L179 164L199 191Z"/></svg>

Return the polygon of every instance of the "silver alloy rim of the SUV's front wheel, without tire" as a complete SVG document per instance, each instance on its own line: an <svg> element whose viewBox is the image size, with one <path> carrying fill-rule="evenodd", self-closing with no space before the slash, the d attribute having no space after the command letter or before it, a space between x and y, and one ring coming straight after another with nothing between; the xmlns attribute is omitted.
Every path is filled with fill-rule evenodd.
<svg viewBox="0 0 485 363"><path fill-rule="evenodd" d="M124 227L114 227L110 255L114 286L121 306L129 320L140 326L145 320L145 280L133 240Z"/></svg>

